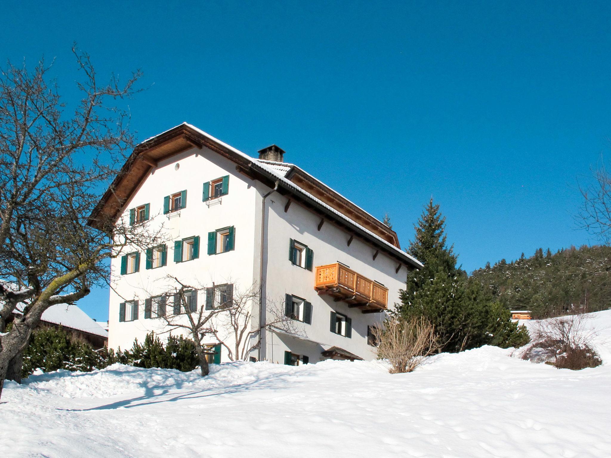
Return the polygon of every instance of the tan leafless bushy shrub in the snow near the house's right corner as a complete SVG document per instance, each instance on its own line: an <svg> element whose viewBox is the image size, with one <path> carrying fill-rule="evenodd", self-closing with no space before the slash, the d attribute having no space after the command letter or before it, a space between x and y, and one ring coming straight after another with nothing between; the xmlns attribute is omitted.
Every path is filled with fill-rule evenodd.
<svg viewBox="0 0 611 458"><path fill-rule="evenodd" d="M373 336L378 343L378 358L389 360L391 374L413 371L439 349L434 326L422 317L392 316L384 327L373 328Z"/></svg>

